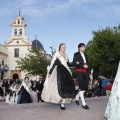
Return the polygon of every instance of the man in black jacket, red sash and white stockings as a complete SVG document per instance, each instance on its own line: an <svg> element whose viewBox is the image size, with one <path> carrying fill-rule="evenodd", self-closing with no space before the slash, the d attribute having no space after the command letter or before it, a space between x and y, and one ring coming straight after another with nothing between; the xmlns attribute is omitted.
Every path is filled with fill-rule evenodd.
<svg viewBox="0 0 120 120"><path fill-rule="evenodd" d="M84 92L88 90L88 77L92 80L92 75L89 68L88 58L84 54L85 44L80 43L78 45L79 51L74 54L73 64L76 68L76 80L78 82L79 88L76 95L76 104L79 105L79 98L82 101L82 107L84 109L89 109L88 105L84 99Z"/></svg>

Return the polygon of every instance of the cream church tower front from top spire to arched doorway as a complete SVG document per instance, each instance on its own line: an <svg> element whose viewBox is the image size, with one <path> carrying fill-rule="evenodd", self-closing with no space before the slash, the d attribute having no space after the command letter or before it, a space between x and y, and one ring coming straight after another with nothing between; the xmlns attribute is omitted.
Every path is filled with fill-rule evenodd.
<svg viewBox="0 0 120 120"><path fill-rule="evenodd" d="M16 60L25 57L32 46L32 42L29 42L25 31L27 24L24 18L20 15L20 12L21 11L19 11L19 15L16 16L14 21L11 23L12 33L4 45L8 50L8 74L12 79L24 78L26 73L18 69Z"/></svg>

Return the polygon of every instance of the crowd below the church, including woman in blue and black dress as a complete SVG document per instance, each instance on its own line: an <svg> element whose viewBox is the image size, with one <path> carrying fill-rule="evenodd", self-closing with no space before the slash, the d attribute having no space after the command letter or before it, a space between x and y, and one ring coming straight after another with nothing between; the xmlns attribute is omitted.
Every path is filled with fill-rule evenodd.
<svg viewBox="0 0 120 120"><path fill-rule="evenodd" d="M23 80L0 79L0 100L9 105L44 102L41 99L44 78L39 76L38 81L25 77Z"/></svg>

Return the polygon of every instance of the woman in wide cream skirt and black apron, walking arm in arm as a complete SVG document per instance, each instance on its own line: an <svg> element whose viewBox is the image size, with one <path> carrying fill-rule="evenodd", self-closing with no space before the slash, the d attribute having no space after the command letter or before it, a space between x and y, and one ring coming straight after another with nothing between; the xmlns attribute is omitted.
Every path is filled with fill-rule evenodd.
<svg viewBox="0 0 120 120"><path fill-rule="evenodd" d="M60 44L59 51L52 58L42 91L42 100L60 104L62 110L65 110L64 104L70 103L76 95L65 50L65 44Z"/></svg>

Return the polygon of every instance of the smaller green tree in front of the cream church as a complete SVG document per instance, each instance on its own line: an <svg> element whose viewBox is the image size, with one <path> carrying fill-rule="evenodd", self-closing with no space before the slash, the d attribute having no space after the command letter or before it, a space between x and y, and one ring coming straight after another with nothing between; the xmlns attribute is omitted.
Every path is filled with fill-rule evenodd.
<svg viewBox="0 0 120 120"><path fill-rule="evenodd" d="M16 61L18 68L27 73L28 76L46 75L47 65L50 61L38 48L31 48L24 58Z"/></svg>

